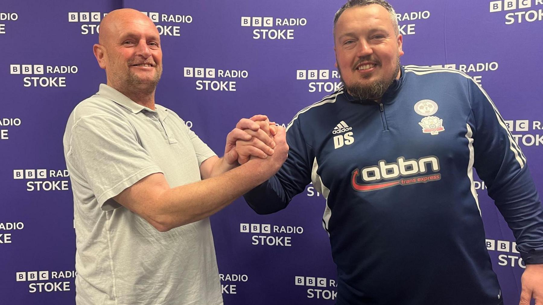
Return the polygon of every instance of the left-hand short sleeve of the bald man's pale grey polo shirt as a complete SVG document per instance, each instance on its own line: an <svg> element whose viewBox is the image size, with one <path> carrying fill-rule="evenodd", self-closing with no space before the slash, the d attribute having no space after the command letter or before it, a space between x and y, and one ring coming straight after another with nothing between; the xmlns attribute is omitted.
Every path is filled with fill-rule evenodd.
<svg viewBox="0 0 543 305"><path fill-rule="evenodd" d="M80 118L71 129L66 162L84 176L104 211L121 207L111 199L154 173L162 173L138 143L135 130L118 117Z"/></svg>

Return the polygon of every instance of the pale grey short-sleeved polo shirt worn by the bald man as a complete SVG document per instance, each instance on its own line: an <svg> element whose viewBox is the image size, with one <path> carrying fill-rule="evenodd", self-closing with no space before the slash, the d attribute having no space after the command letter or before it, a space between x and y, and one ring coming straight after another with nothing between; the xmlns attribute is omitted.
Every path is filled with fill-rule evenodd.
<svg viewBox="0 0 543 305"><path fill-rule="evenodd" d="M209 218L159 232L111 199L153 173L200 181L213 151L175 112L107 85L73 110L64 155L74 199L78 304L222 304Z"/></svg>

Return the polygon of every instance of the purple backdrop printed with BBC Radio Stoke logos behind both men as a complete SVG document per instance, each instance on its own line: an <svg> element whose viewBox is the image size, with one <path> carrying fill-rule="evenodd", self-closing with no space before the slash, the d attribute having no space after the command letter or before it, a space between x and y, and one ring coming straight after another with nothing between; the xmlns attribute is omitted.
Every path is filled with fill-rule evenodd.
<svg viewBox="0 0 543 305"><path fill-rule="evenodd" d="M390 2L400 14L402 63L462 69L479 81L508 120L542 192L543 3ZM62 135L73 107L105 82L92 55L105 12L135 8L156 21L165 65L157 103L176 111L222 155L239 118L264 113L286 125L339 85L332 19L342 4L4 1L0 303L74 303L73 200ZM513 234L484 183L478 180L476 187L506 305L518 304L524 265ZM321 225L324 206L310 185L279 213L256 215L237 200L214 215L224 303L333 304L336 269ZM298 285L301 277L305 285Z"/></svg>

